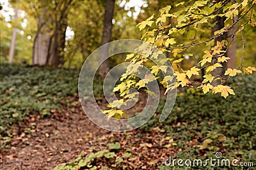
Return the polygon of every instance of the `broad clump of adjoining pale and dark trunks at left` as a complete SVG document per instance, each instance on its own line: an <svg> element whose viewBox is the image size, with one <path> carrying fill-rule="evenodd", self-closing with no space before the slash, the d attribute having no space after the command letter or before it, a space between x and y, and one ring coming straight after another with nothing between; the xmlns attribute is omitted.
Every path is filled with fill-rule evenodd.
<svg viewBox="0 0 256 170"><path fill-rule="evenodd" d="M38 20L38 33L36 34L33 45L33 64L45 66L47 64L58 67L64 62L64 48L67 30L67 15L68 9L72 0L61 1L56 4L56 7L51 11L51 15L47 14L47 8L43 8L42 15ZM42 5L47 6L45 0L42 0ZM57 6L61 7L60 11ZM54 17L52 17L54 15ZM49 25L54 25L54 29ZM47 32L53 32L51 35Z"/></svg>

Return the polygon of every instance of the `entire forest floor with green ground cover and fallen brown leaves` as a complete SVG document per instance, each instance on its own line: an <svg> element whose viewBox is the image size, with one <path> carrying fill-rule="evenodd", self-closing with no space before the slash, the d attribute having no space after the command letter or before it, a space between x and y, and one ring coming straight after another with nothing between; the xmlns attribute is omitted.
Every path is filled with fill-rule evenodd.
<svg viewBox="0 0 256 170"><path fill-rule="evenodd" d="M110 132L86 117L77 97L78 75L71 69L1 67L1 170L166 169L164 161L170 157L206 160L216 152L223 153L222 159L253 162L254 167L243 169L256 169L255 76L230 79L236 96L227 99L196 87L180 89L163 123L159 116L164 97L147 124L134 131ZM106 107L102 80L95 80L93 92L97 104L86 104ZM129 116L144 108L146 97L141 98Z"/></svg>

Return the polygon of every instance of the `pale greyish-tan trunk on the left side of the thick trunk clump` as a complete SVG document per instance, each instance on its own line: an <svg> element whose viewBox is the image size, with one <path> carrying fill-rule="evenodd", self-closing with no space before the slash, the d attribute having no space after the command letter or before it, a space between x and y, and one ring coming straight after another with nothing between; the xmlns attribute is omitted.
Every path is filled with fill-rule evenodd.
<svg viewBox="0 0 256 170"><path fill-rule="evenodd" d="M37 66L47 65L47 57L49 56L49 45L51 42L51 35L47 33L47 8L43 8L42 14L38 18L38 31L36 32L33 43L33 59L32 64Z"/></svg>

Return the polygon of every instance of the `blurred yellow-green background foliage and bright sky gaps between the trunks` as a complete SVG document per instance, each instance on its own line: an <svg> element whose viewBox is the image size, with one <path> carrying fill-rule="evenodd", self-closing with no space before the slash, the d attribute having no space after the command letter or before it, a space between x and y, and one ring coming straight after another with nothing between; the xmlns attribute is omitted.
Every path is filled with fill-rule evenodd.
<svg viewBox="0 0 256 170"><path fill-rule="evenodd" d="M45 0L46 1L46 0ZM12 39L13 27L17 26L17 38L15 43L15 56L14 63L21 63L22 60L26 60L28 64L32 64L33 55L33 41L37 31L38 16L42 13L43 1L8 1L1 0L2 9L0 10L0 22L1 22L1 52L0 62L8 62L8 53L10 50L10 43ZM47 1L48 2L48 1ZM57 11L53 11L52 4L54 1L49 1L47 4L49 16L58 14ZM115 1L115 12L112 20L113 29L111 40L133 38L140 39L144 32L140 32L136 25L152 14L158 13L160 8L166 5L177 4L178 1L152 1L152 0L118 0ZM96 48L100 46L100 40L103 29L104 19L104 6L105 1L76 1L73 0L70 6L68 6L67 15L67 31L65 38L64 64L62 67L80 68L83 65L84 60L92 53ZM17 6L18 18L14 17L14 8ZM178 7L172 8L173 11L179 10ZM168 21L171 23L173 21ZM243 21L241 21L243 22ZM167 24L168 24L167 23ZM211 23L208 23L211 24ZM49 27L54 27L54 24L50 24ZM198 31L195 38L203 39L207 36L211 36L210 30L205 30L204 25L198 28L202 32ZM256 64L256 47L254 45L256 28L248 25L244 27L244 41L245 41L245 54L243 66L255 66ZM195 32L191 32L194 34ZM177 41L186 41L185 37L180 37ZM195 66L198 60L202 58L204 50L209 50L205 46L196 46L195 48L189 48L188 55L184 56L185 60L182 61L182 65L186 67ZM241 35L237 34L237 59L236 64L239 65L242 50ZM193 53L193 56L189 56L189 53ZM110 65L122 62L123 57L115 57L111 59Z"/></svg>

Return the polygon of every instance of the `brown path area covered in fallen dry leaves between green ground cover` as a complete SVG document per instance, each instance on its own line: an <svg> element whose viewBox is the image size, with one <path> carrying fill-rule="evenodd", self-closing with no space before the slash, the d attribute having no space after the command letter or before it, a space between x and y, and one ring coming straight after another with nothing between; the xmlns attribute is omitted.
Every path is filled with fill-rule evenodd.
<svg viewBox="0 0 256 170"><path fill-rule="evenodd" d="M29 115L25 122L15 124L10 147L1 150L0 169L53 169L75 160L80 154L88 156L108 149L109 141L122 145L120 157L125 155L126 148L131 148L132 158L125 160L124 157L123 161L128 165L126 169L157 169L168 155L175 153L174 148L161 147L168 144L168 140L164 141L159 128L151 132L106 131L86 117L77 97L71 101L77 101L76 106L61 106L52 110L47 118ZM108 161L97 162L97 167L109 166Z"/></svg>

